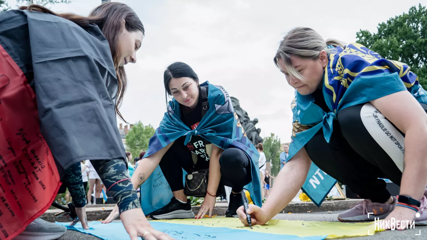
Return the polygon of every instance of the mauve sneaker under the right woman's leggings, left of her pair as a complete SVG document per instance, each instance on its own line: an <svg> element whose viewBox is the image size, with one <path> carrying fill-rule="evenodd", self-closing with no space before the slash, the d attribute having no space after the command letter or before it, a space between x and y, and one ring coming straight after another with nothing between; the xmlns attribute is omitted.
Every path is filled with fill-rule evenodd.
<svg viewBox="0 0 427 240"><path fill-rule="evenodd" d="M385 219L395 209L397 199L393 197L392 204L372 202L369 199L358 202L349 210L340 213L338 220L342 222L374 221L374 218ZM374 213L369 214L368 213Z"/></svg>

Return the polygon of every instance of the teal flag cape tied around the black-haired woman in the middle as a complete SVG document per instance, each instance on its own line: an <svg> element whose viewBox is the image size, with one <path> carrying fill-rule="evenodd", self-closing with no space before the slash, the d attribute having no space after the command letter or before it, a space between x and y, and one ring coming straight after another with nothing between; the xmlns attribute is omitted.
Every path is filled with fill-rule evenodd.
<svg viewBox="0 0 427 240"><path fill-rule="evenodd" d="M251 160L252 182L244 188L251 194L255 205L261 206L261 187L258 159L260 154L240 124L237 114L234 113L228 92L222 86L215 86L209 82L200 84L208 86L209 110L203 116L196 129L191 130L181 121L180 104L175 98L169 101L167 112L149 141L145 157L149 157L181 136L185 136L186 145L192 136L200 135L212 144L222 149L239 148ZM185 175L185 171L184 175ZM184 177L184 176L183 176ZM170 202L172 192L159 166L140 187L141 207L145 214L151 213Z"/></svg>

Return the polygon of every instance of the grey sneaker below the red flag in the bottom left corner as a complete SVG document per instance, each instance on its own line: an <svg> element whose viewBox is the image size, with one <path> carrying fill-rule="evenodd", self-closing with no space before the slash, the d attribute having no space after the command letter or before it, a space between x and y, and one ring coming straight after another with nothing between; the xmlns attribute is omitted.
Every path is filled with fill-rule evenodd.
<svg viewBox="0 0 427 240"><path fill-rule="evenodd" d="M62 237L67 228L41 218L32 221L14 240L53 240Z"/></svg>

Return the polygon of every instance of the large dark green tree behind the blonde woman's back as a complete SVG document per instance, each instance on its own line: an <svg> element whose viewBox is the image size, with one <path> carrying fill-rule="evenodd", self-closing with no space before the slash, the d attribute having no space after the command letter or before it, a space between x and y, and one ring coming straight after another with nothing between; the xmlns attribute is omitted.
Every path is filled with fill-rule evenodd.
<svg viewBox="0 0 427 240"><path fill-rule="evenodd" d="M383 58L406 63L427 89L427 11L413 6L408 13L380 23L377 33L360 30L357 43L379 53Z"/></svg>

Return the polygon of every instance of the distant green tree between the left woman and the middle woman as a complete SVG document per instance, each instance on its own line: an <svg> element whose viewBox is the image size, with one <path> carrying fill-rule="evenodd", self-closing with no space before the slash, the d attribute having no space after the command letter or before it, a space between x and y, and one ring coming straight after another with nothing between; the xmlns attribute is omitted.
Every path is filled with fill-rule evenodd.
<svg viewBox="0 0 427 240"><path fill-rule="evenodd" d="M126 145L132 156L139 157L141 150L147 150L148 142L154 135L155 129L151 125L144 126L141 121L133 125L126 135Z"/></svg>

